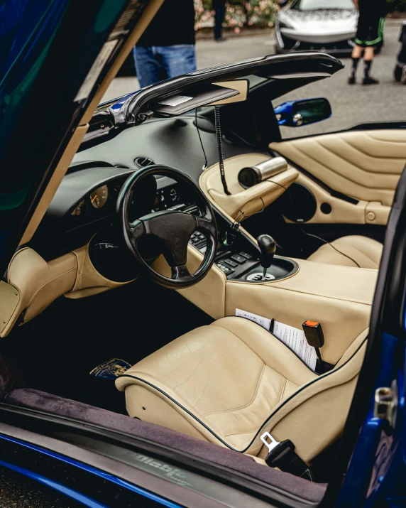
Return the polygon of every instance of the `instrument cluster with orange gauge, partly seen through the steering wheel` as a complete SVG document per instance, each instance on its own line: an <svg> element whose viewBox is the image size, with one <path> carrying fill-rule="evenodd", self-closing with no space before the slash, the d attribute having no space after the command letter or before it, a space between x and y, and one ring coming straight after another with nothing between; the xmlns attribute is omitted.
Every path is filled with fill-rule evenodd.
<svg viewBox="0 0 406 508"><path fill-rule="evenodd" d="M100 164L100 163L98 163ZM116 204L121 187L135 170L117 168L105 164L101 167L88 167L84 164L75 166L75 171L67 174L62 180L48 210L33 238L35 249L45 257L53 259L70 252L116 221ZM158 212L160 210L180 210L197 212L197 207L182 189L182 186L165 177L155 177L156 193L151 196L150 206L147 203L141 208L132 202L132 220L136 211L139 214ZM131 212L130 212L131 216ZM52 236L53 242L46 242L43 252L44 237ZM41 247L42 244L42 247Z"/></svg>

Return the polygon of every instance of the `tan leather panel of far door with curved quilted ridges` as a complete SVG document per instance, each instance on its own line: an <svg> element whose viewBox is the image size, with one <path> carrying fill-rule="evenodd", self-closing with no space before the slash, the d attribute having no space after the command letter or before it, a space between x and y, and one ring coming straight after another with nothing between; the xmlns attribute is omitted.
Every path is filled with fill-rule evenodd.
<svg viewBox="0 0 406 508"><path fill-rule="evenodd" d="M309 222L380 224L388 222L395 188L406 164L406 131L346 131L270 144L270 148L303 168L336 192L358 204L334 198L322 186L300 175L317 200ZM320 211L322 202L331 212Z"/></svg>

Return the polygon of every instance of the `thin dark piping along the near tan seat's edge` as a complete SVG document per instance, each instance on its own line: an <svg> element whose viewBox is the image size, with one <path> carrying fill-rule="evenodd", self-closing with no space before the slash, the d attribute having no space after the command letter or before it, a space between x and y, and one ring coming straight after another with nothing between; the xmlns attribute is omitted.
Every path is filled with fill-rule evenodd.
<svg viewBox="0 0 406 508"><path fill-rule="evenodd" d="M137 376L131 376L131 374L121 374L121 376L119 377L131 377L131 379L136 379L137 381L141 382L141 383L144 383L144 384L147 384L149 387L152 387L153 389L155 389L156 391L159 391L160 394L163 394L165 397L167 397L170 401L172 401L176 406L180 407L180 409L182 409L182 411L185 411L185 413L187 413L189 416L192 416L192 418L194 418L194 420L196 420L202 427L204 427L207 431L209 431L209 433L212 434L212 436L214 436L218 441L220 441L220 443L224 444L224 446L226 446L227 448L229 448L230 450L234 450L238 453L245 453L250 447L251 445L253 444L253 442L256 440L256 438L258 437L258 434L260 433L260 430L266 425L266 423L270 420L270 418L272 418L276 413L278 413L278 411L283 407L285 406L285 404L287 404L288 401L290 401L291 399L293 399L293 397L295 397L297 394L300 394L300 392L302 390L304 390L305 388L311 386L312 384L314 384L315 382L319 381L319 379L324 379L325 377L329 377L331 375L333 375L335 372L338 372L339 370L341 370L343 367L346 366L346 364L348 364L349 362L351 362L351 360L353 359L353 357L356 356L356 354L358 353L359 350L361 350L361 347L363 347L363 344L364 342L366 342L368 340L368 337L366 337L362 342L361 344L358 346L358 348L356 349L356 351L353 352L353 355L344 363L342 364L340 367L337 367L336 369L334 370L331 370L329 372L327 372L326 374L323 374L321 377L317 377L316 379L313 379L312 381L310 381L309 383L307 384L304 384L299 390L295 391L294 394L292 394L290 397L288 397L287 399L285 399L285 401L282 402L282 404L280 404L280 406L278 407L278 409L276 409L275 411L273 411L269 416L268 418L265 419L265 421L263 421L263 423L258 427L258 431L256 433L255 436L253 436L253 438L251 439L250 443L246 446L246 448L244 448L243 450L236 450L236 448L233 448L231 445L229 445L229 443L226 443L226 441L224 441L223 439L221 439L219 436L217 436L217 434L212 431L211 428L209 428L209 426L206 425L206 423L202 422L202 420L200 420L199 418L197 418L196 415L194 415L191 411L189 411L188 409L185 408L185 406L182 406L182 404L180 404L177 400L175 399L172 399L172 397L170 395L168 395L167 393L165 393L165 391L163 391L163 389L160 389L158 387L155 387L154 384L148 382L148 381L145 381L145 379L141 379L141 377L137 377ZM117 379L119 379L119 377Z"/></svg>

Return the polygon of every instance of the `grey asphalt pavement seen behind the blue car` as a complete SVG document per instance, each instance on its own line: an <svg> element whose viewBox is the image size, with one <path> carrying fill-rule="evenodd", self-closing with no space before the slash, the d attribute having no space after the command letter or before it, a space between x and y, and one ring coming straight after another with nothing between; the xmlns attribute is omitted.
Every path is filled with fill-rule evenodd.
<svg viewBox="0 0 406 508"><path fill-rule="evenodd" d="M386 28L385 46L373 63L372 75L380 80L380 85L363 87L361 82L362 65L358 68L358 84L347 84L349 58L341 59L346 68L337 72L328 80L307 85L296 92L287 94L283 99L305 97L327 97L333 108L333 117L312 126L300 129L287 129L285 136L304 136L322 131L345 129L363 121L406 120L406 87L393 80L393 68L399 51L397 34L401 21L390 21ZM270 32L256 36L231 37L224 43L211 39L197 40L197 64L200 69L254 58L273 53L273 35ZM104 99L138 90L136 77L119 77L111 84ZM278 100L278 104L283 102Z"/></svg>

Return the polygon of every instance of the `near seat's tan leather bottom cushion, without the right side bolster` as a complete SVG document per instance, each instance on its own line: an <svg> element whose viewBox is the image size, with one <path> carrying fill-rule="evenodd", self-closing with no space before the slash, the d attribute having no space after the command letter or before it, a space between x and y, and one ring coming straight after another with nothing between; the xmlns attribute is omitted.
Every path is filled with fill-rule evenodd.
<svg viewBox="0 0 406 508"><path fill-rule="evenodd" d="M295 353L264 328L233 317L170 342L128 369L116 380L116 387L122 390L132 385L126 388L130 416L202 438L205 433L198 436L192 431L194 422L180 421L178 407L165 408L168 399L173 399L216 436L243 448L273 408L314 377ZM155 387L152 394L143 393L145 383Z"/></svg>

